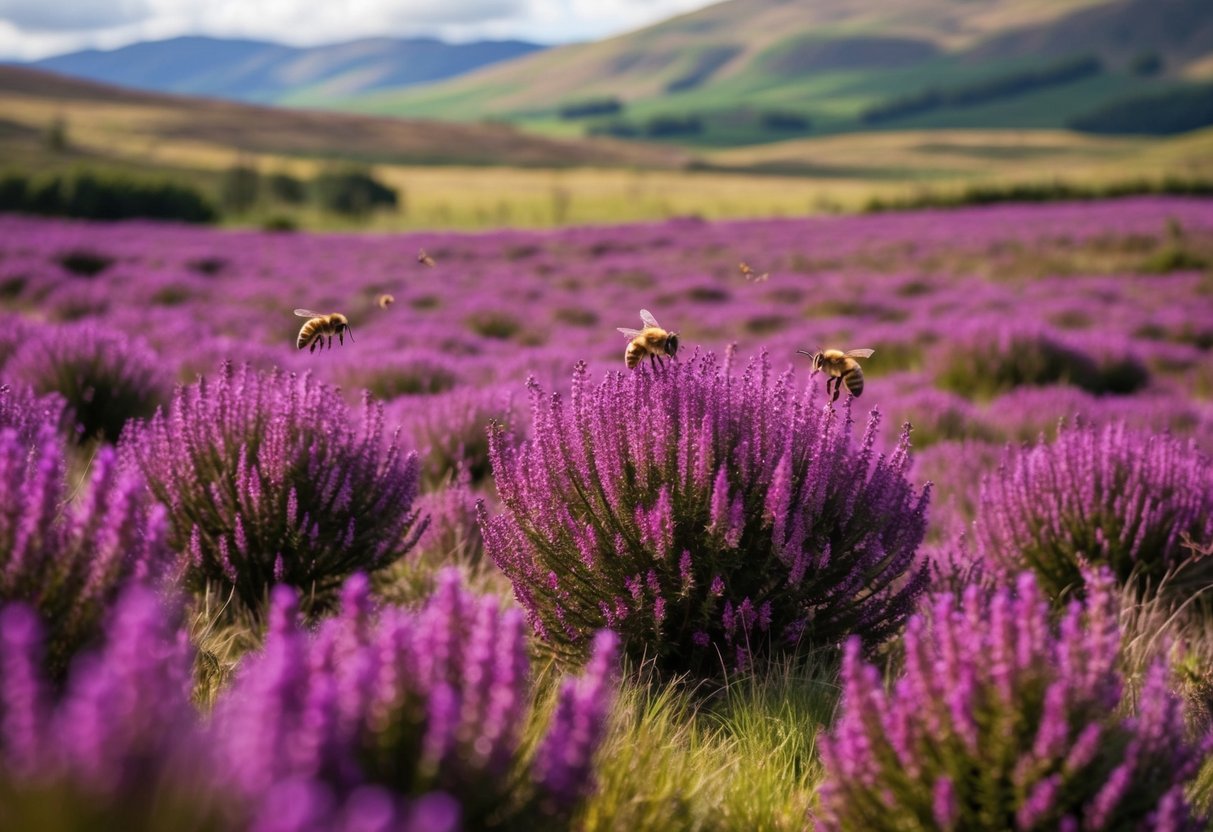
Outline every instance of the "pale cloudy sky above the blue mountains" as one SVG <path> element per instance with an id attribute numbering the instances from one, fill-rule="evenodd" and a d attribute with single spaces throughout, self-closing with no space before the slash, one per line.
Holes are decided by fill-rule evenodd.
<path id="1" fill-rule="evenodd" d="M 713 0 L 0 0 L 0 59 L 177 35 L 311 46 L 368 36 L 597 40 Z"/>

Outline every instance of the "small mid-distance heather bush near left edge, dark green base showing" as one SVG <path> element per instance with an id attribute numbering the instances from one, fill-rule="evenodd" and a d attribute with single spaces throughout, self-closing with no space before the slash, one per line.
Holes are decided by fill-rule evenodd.
<path id="1" fill-rule="evenodd" d="M 38 393 L 62 395 L 81 441 L 116 441 L 130 420 L 150 416 L 170 392 L 147 344 L 89 324 L 35 330 L 5 371 Z"/>

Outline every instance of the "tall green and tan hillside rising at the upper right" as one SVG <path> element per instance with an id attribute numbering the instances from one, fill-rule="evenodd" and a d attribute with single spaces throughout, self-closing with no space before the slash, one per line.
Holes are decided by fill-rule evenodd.
<path id="1" fill-rule="evenodd" d="M 1208 0 L 729 0 L 452 81 L 308 103 L 735 146 L 872 129 L 1063 127 L 1183 89 L 1211 57 Z M 559 115 L 597 99 L 621 109 Z M 944 103 L 870 118 L 933 99 Z"/>

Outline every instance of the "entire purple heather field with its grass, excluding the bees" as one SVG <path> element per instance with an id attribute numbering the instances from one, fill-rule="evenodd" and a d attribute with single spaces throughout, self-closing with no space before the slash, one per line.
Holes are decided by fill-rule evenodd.
<path id="1" fill-rule="evenodd" d="M 1208 822 L 1211 201 L 0 216 L 0 308 L 13 828 Z"/>

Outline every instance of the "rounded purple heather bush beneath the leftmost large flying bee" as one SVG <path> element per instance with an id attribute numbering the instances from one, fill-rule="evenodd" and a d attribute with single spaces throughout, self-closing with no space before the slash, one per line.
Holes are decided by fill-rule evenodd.
<path id="1" fill-rule="evenodd" d="M 409 551 L 425 529 L 411 511 L 416 455 L 383 441 L 381 406 L 364 400 L 352 421 L 309 376 L 228 364 L 133 432 L 126 450 L 169 507 L 194 588 L 258 610 L 287 583 L 319 609 L 347 575 Z"/>

